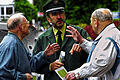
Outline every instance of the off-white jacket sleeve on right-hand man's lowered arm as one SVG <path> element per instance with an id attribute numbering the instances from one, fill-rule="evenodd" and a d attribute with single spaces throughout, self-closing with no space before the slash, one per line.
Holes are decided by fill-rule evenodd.
<path id="1" fill-rule="evenodd" d="M 83 64 L 73 72 L 82 77 L 99 77 L 108 72 L 114 65 L 117 51 L 109 40 L 101 41 L 92 53 L 90 62 Z"/>

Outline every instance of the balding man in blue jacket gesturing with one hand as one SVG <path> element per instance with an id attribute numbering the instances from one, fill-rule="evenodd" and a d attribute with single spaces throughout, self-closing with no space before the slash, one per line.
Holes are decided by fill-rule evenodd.
<path id="1" fill-rule="evenodd" d="M 21 14 L 12 15 L 7 22 L 8 34 L 0 43 L 0 80 L 32 80 L 31 72 L 36 72 L 46 63 L 46 56 L 57 51 L 59 45 L 48 45 L 44 53 L 29 53 L 22 39 L 29 34 L 29 21 Z M 53 47 L 56 49 L 53 50 Z"/>

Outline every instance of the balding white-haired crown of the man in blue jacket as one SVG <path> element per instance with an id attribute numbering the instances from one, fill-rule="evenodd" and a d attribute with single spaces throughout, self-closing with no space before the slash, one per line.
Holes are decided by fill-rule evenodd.
<path id="1" fill-rule="evenodd" d="M 8 30 L 15 29 L 18 24 L 22 23 L 23 18 L 25 18 L 25 17 L 23 16 L 22 13 L 17 13 L 17 14 L 12 15 L 8 19 L 8 22 L 7 22 Z"/>

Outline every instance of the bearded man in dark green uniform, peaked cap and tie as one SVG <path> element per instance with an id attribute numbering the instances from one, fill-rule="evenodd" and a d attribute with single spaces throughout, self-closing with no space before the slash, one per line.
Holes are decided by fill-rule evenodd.
<path id="1" fill-rule="evenodd" d="M 55 69 L 64 66 L 67 71 L 74 70 L 80 67 L 83 63 L 86 62 L 87 54 L 85 51 L 81 50 L 80 53 L 76 53 L 71 55 L 69 52 L 75 43 L 72 38 L 66 37 L 66 35 L 70 34 L 66 32 L 66 26 L 73 26 L 65 23 L 65 12 L 64 12 L 65 3 L 64 0 L 52 0 L 48 2 L 44 7 L 43 10 L 47 15 L 47 20 L 49 23 L 52 23 L 52 27 L 50 27 L 46 32 L 41 34 L 37 40 L 33 53 L 37 53 L 39 51 L 44 52 L 48 44 L 58 43 L 60 42 L 59 51 L 55 54 L 47 57 L 48 63 L 43 65 L 39 70 L 38 73 L 45 74 L 44 80 L 61 80 L 59 76 L 55 73 Z M 88 34 L 80 27 L 76 27 L 80 34 L 84 38 L 88 38 Z M 58 31 L 61 33 L 61 40 L 59 38 Z M 64 62 L 60 63 L 57 61 L 60 55 L 60 51 L 65 52 Z"/>

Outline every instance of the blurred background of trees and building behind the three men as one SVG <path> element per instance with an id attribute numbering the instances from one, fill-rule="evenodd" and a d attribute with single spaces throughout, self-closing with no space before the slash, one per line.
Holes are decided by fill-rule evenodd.
<path id="1" fill-rule="evenodd" d="M 10 15 L 24 13 L 30 24 L 30 34 L 23 39 L 25 47 L 32 52 L 38 36 L 50 26 L 45 18 L 42 7 L 48 0 L 0 0 L 0 42 L 7 34 L 7 20 Z M 113 12 L 114 23 L 120 29 L 119 0 L 64 0 L 66 23 L 84 28 L 94 40 L 97 35 L 91 28 L 91 13 L 97 8 L 109 8 Z"/>

